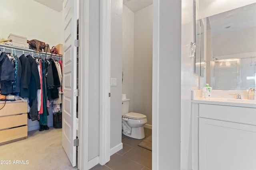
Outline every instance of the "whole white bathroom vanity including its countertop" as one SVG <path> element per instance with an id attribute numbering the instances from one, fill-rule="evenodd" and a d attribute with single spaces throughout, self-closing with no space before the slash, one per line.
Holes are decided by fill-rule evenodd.
<path id="1" fill-rule="evenodd" d="M 215 94 L 192 92 L 192 169 L 256 170 L 256 101 Z"/>

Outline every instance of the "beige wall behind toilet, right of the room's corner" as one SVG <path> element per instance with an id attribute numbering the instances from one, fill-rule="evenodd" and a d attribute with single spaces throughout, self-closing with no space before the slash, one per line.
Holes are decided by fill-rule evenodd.
<path id="1" fill-rule="evenodd" d="M 153 5 L 134 13 L 133 111 L 147 116 L 152 125 Z"/>

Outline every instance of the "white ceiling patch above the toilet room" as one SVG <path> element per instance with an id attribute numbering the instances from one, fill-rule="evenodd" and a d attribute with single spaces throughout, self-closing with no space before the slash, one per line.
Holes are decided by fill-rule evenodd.
<path id="1" fill-rule="evenodd" d="M 132 12 L 136 12 L 153 4 L 153 0 L 123 0 L 123 4 L 132 10 Z"/>

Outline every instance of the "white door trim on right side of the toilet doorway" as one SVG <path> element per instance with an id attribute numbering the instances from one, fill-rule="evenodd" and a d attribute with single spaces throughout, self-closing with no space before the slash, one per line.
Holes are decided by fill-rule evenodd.
<path id="1" fill-rule="evenodd" d="M 159 169 L 159 10 L 160 0 L 153 1 L 153 61 L 152 61 L 152 169 Z"/>

